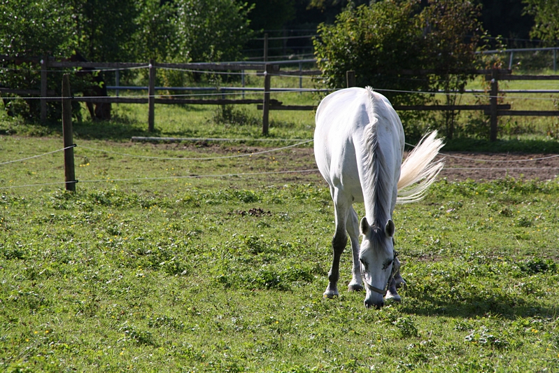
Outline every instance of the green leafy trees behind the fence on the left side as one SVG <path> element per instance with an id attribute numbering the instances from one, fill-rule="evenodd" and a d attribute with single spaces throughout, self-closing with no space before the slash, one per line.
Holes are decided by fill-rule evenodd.
<path id="1" fill-rule="evenodd" d="M 1 0 L 0 55 L 96 62 L 239 59 L 250 36 L 249 10 L 236 0 Z M 7 61 L 2 67 L 3 87 L 39 89 L 38 59 Z M 92 79 L 75 80 L 82 81 L 73 87 L 85 87 Z M 59 96 L 58 83 L 49 89 Z M 10 113 L 38 118 L 34 101 L 6 106 Z M 53 120 L 59 118 L 56 106 L 50 104 L 48 111 Z"/>

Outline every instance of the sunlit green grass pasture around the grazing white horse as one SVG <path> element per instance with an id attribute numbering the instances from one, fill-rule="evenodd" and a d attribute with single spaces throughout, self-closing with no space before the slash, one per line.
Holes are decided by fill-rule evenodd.
<path id="1" fill-rule="evenodd" d="M 186 109 L 158 133 L 256 136 Z M 1 371 L 558 369 L 557 180 L 441 180 L 397 206 L 409 286 L 365 309 L 364 293 L 323 299 L 334 216 L 320 175 L 278 173 L 313 169 L 309 144 L 130 143 L 143 108 L 118 110 L 76 124 L 76 193 L 62 153 L 0 165 Z M 0 162 L 62 147 L 35 128 L 52 132 L 0 136 Z M 231 155 L 246 156 L 187 159 Z M 350 267 L 346 252 L 342 284 Z"/>

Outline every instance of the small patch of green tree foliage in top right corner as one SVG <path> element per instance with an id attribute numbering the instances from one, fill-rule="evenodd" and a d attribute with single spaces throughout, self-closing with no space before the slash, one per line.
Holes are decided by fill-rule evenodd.
<path id="1" fill-rule="evenodd" d="M 539 38 L 557 45 L 559 40 L 559 1 L 523 0 L 525 14 L 533 15 L 535 24 L 530 31 L 532 38 Z"/>

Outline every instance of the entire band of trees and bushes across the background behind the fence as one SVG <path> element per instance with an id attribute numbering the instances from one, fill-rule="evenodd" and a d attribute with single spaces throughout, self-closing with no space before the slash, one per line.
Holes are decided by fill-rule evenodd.
<path id="1" fill-rule="evenodd" d="M 518 37 L 531 36 L 534 43 L 556 45 L 558 22 L 553 4 L 539 0 L 509 1 L 506 9 L 494 1 L 317 1 L 317 0 L 41 0 L 30 6 L 28 0 L 0 1 L 0 54 L 12 57 L 50 55 L 56 59 L 79 56 L 99 62 L 207 62 L 254 58 L 254 43 L 261 48 L 263 31 L 286 35 L 289 28 L 306 30 L 318 36 L 314 41 L 318 66 L 323 71 L 319 87 L 340 88 L 345 73 L 357 72 L 358 85 L 373 85 L 394 104 L 456 104 L 459 95 L 409 94 L 407 92 L 462 92 L 474 76 L 465 69 L 502 66 L 497 59 L 475 55 L 485 48 L 515 46 Z M 106 12 L 106 9 L 111 9 Z M 506 13 L 506 14 L 505 14 Z M 515 30 L 503 26 L 517 22 Z M 500 23 L 496 20 L 500 20 Z M 516 21 L 515 21 L 516 22 Z M 505 22 L 506 23 L 506 22 Z M 522 26 L 521 26 L 522 25 Z M 318 26 L 318 28 L 317 28 Z M 266 30 L 266 28 L 269 28 Z M 108 32 L 108 30 L 111 30 Z M 491 32 L 514 38 L 495 39 Z M 515 34 L 516 32 L 516 34 Z M 277 33 L 276 33 L 277 34 Z M 279 35 L 279 34 L 278 34 Z M 299 40 L 299 39 L 293 39 Z M 512 40 L 512 39 L 511 39 Z M 287 52 L 288 39 L 271 41 L 271 51 Z M 307 41 L 308 42 L 308 41 Z M 283 43 L 276 48 L 274 43 Z M 294 47 L 295 48 L 295 47 Z M 262 57 L 262 50 L 259 58 Z M 271 52 L 274 54 L 275 52 Z M 283 56 L 287 58 L 287 56 Z M 536 56 L 535 60 L 543 60 Z M 518 62 L 520 68 L 521 63 Z M 402 69 L 429 69 L 430 75 L 402 74 Z M 49 89 L 59 95 L 59 74 L 52 71 Z M 105 80 L 115 79 L 105 73 Z M 239 78 L 216 78 L 197 73 L 160 71 L 160 85 L 221 85 L 239 83 Z M 24 59 L 4 62 L 0 85 L 18 89 L 38 89 L 36 63 Z M 125 71 L 120 83 L 146 83 L 146 71 Z M 72 85 L 79 92 L 98 79 L 73 75 Z M 394 90 L 400 92 L 394 92 Z M 316 104 L 315 97 L 310 104 Z M 58 122 L 59 105 L 50 103 L 49 120 Z M 4 102 L 10 115 L 36 122 L 38 101 Z M 76 106 L 78 110 L 79 106 Z M 80 112 L 76 112 L 79 117 Z M 448 139 L 453 136 L 486 136 L 472 120 L 460 123 L 455 111 L 440 117 L 425 112 L 402 112 L 406 134 L 417 139 L 425 127 L 437 122 Z M 481 120 L 483 122 L 483 120 Z M 486 127 L 485 125 L 481 127 Z"/>

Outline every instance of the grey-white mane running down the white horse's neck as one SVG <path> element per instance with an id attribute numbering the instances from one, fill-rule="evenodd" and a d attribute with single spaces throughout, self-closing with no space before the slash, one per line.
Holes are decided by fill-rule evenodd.
<path id="1" fill-rule="evenodd" d="M 384 238 L 384 224 L 388 220 L 385 204 L 390 204 L 391 190 L 388 181 L 388 167 L 386 167 L 386 158 L 382 153 L 381 147 L 378 145 L 378 115 L 375 113 L 376 100 L 372 87 L 365 87 L 367 90 L 367 113 L 371 122 L 365 126 L 362 151 L 364 152 L 364 176 L 365 183 L 363 188 L 363 196 L 365 201 L 372 202 L 372 221 L 369 224 L 374 232 L 373 237 L 381 240 Z M 367 205 L 366 205 L 367 206 Z"/>

